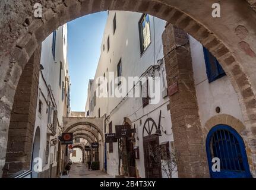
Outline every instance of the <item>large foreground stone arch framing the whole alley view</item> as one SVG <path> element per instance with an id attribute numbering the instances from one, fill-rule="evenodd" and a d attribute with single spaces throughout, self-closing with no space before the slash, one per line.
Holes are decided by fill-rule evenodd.
<path id="1" fill-rule="evenodd" d="M 27 12 L 33 12 L 33 1 L 11 1 L 6 7 L 5 1 L 1 1 L 0 7 L 4 11 L 0 19 L 0 138 L 7 139 L 14 94 L 24 65 L 54 29 L 93 12 L 107 9 L 137 11 L 147 12 L 174 24 L 191 34 L 216 56 L 238 93 L 248 144 L 255 162 L 255 4 L 253 1 L 226 0 L 221 4 L 222 17 L 213 18 L 213 3 L 212 0 L 42 1 L 43 17 L 35 19 L 32 14 L 27 15 Z M 5 143 L 0 145 L 0 171 L 5 162 L 6 147 Z"/>

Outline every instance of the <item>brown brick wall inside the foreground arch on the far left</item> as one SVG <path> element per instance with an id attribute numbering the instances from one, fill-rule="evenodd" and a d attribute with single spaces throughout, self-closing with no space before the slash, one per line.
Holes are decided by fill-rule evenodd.
<path id="1" fill-rule="evenodd" d="M 41 48 L 26 64 L 14 96 L 3 177 L 30 169 L 36 118 Z"/>

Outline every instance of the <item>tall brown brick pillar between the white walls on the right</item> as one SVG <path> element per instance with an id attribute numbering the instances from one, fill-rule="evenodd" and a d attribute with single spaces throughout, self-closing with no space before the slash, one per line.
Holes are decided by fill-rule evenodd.
<path id="1" fill-rule="evenodd" d="M 164 55 L 167 55 L 165 57 L 167 85 L 170 88 L 178 83 L 178 91 L 169 96 L 173 138 L 178 156 L 178 176 L 206 178 L 208 177 L 207 158 L 198 113 L 188 36 L 184 31 L 167 24 L 162 38 Z M 185 43 L 185 46 L 169 53 L 175 48 L 175 44 L 179 46 Z"/>

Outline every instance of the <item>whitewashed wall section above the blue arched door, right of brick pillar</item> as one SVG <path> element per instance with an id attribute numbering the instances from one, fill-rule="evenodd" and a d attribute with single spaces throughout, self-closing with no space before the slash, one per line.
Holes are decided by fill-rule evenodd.
<path id="1" fill-rule="evenodd" d="M 203 46 L 191 36 L 189 40 L 201 124 L 204 126 L 208 119 L 218 114 L 217 106 L 220 107 L 219 114 L 231 115 L 244 122 L 238 96 L 228 77 L 224 76 L 209 84 Z"/>

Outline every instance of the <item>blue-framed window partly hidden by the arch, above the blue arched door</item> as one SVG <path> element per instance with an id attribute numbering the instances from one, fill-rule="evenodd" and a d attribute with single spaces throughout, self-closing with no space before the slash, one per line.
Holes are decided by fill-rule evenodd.
<path id="1" fill-rule="evenodd" d="M 217 59 L 206 49 L 206 47 L 203 47 L 204 49 L 204 59 L 206 62 L 206 73 L 208 77 L 209 83 L 217 80 L 218 78 L 221 78 L 225 76 L 225 71 L 223 70 L 222 66 L 219 64 Z"/>

